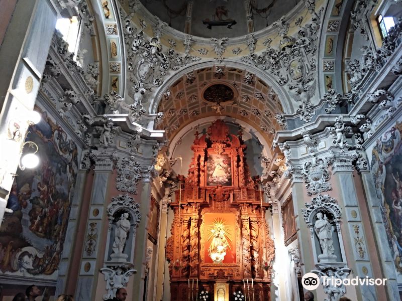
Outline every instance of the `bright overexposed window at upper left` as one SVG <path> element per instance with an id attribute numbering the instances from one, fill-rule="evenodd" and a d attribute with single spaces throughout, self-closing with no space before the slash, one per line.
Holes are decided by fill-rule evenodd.
<path id="1" fill-rule="evenodd" d="M 74 53 L 74 60 L 78 51 L 80 25 L 81 18 L 75 16 L 71 19 L 58 19 L 56 23 L 56 29 L 63 35 L 64 41 L 68 43 L 68 51 Z"/>

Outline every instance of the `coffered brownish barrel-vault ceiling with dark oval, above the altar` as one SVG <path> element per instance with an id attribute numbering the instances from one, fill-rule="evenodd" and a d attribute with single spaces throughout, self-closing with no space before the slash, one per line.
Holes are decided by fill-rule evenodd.
<path id="1" fill-rule="evenodd" d="M 272 140 L 279 129 L 273 117 L 283 109 L 275 91 L 254 74 L 212 66 L 176 80 L 165 90 L 158 111 L 165 115 L 159 129 L 165 129 L 169 139 L 185 124 L 216 115 L 245 120 Z"/>

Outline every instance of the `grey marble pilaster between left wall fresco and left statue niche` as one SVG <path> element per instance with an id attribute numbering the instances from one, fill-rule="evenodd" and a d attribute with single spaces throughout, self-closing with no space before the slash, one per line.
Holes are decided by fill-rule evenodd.
<path id="1" fill-rule="evenodd" d="M 107 153 L 92 151 L 92 154 L 94 175 L 89 201 L 88 221 L 86 227 L 80 229 L 81 231 L 85 231 L 85 238 L 81 264 L 78 270 L 79 276 L 76 282 L 75 299 L 77 301 L 95 299 L 98 277 L 101 275 L 98 271 L 104 264 L 107 239 L 102 233 L 107 229 L 105 225 L 108 222 L 106 208 L 110 203 L 108 199 L 108 187 L 110 185 L 113 163 L 110 155 Z M 74 277 L 74 275 L 71 276 Z"/>

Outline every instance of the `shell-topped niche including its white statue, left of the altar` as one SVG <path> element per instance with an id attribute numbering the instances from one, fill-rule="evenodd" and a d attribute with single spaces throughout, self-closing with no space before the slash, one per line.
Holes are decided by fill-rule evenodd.
<path id="1" fill-rule="evenodd" d="M 119 195 L 108 206 L 109 231 L 106 262 L 134 262 L 137 226 L 141 219 L 139 204 L 132 197 Z"/>

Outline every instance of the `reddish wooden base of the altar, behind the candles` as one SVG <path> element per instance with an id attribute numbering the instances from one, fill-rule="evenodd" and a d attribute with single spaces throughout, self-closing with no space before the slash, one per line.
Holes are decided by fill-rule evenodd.
<path id="1" fill-rule="evenodd" d="M 253 287 L 251 284 L 251 279 L 249 279 L 248 289 L 247 282 L 243 285 L 243 280 L 210 280 L 210 281 L 199 281 L 198 280 L 198 289 L 196 288 L 196 280 L 194 279 L 194 284 L 192 284 L 192 279 L 188 283 L 188 279 L 182 281 L 171 281 L 170 282 L 170 294 L 171 301 L 202 301 L 199 298 L 199 293 L 201 291 L 208 291 L 208 300 L 209 301 L 220 301 L 214 298 L 214 287 L 216 283 L 227 283 L 229 285 L 229 299 L 224 301 L 235 301 L 234 292 L 238 292 L 239 290 L 244 294 L 246 292 L 245 301 L 270 301 L 271 299 L 271 283 L 263 282 L 263 281 L 253 281 L 254 287 L 254 295 L 253 295 Z"/>

